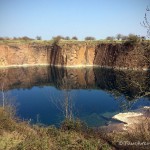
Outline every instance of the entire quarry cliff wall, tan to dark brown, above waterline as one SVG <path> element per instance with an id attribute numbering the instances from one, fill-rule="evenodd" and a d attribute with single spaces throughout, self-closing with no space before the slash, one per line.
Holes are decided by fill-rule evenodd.
<path id="1" fill-rule="evenodd" d="M 0 45 L 0 66 L 12 65 L 104 66 L 149 69 L 148 45 L 119 43 L 63 43 L 56 45 Z"/>

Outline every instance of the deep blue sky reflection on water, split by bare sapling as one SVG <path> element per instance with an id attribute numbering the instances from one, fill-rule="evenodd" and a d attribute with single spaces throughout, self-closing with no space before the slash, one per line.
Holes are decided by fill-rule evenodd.
<path id="1" fill-rule="evenodd" d="M 37 118 L 44 124 L 58 125 L 63 120 L 63 113 L 57 101 L 63 101 L 63 92 L 54 87 L 33 87 L 26 90 L 12 90 L 16 96 L 18 115 L 23 119 Z M 72 90 L 73 114 L 81 118 L 89 125 L 102 125 L 107 119 L 121 111 L 121 104 L 127 104 L 126 100 L 115 100 L 113 96 L 102 90 Z M 133 102 L 132 109 L 141 106 L 150 106 L 150 101 L 140 99 Z M 58 107 L 58 108 L 57 108 Z M 60 109 L 60 110 L 59 110 Z"/>

